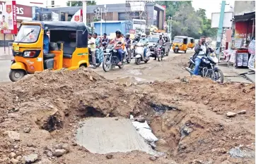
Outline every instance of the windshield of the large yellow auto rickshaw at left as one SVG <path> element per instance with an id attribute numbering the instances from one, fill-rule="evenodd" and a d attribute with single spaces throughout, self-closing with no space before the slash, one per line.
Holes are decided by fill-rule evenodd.
<path id="1" fill-rule="evenodd" d="M 22 25 L 14 42 L 37 42 L 41 27 L 39 25 Z"/>

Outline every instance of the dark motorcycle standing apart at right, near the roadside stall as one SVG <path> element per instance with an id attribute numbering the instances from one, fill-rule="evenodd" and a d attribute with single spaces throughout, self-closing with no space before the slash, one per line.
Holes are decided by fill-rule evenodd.
<path id="1" fill-rule="evenodd" d="M 223 83 L 223 72 L 219 68 L 217 68 L 217 63 L 219 63 L 219 59 L 213 52 L 214 51 L 211 50 L 211 53 L 208 53 L 206 54 L 206 56 L 202 57 L 202 61 L 199 66 L 199 75 L 202 77 L 209 77 L 211 78 L 211 80 Z M 194 66 L 194 58 L 193 56 L 190 56 L 189 67 L 185 68 L 188 72 L 190 72 L 190 75 L 193 75 Z"/>

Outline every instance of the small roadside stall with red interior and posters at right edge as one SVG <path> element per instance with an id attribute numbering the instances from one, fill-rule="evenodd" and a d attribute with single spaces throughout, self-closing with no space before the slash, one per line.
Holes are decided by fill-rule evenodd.
<path id="1" fill-rule="evenodd" d="M 255 70 L 255 11 L 234 16 L 232 47 L 224 52 L 236 68 Z"/>

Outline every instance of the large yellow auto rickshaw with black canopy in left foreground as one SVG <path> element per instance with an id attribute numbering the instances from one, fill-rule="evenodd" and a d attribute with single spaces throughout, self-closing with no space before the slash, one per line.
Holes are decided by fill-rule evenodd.
<path id="1" fill-rule="evenodd" d="M 46 32 L 50 44 L 49 53 L 44 54 Z M 24 22 L 13 42 L 13 56 L 9 73 L 13 82 L 35 71 L 88 67 L 88 28 L 75 22 Z"/>

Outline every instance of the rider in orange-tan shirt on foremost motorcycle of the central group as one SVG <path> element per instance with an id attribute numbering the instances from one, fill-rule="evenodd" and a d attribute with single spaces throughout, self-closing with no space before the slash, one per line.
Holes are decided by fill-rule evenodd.
<path id="1" fill-rule="evenodd" d="M 117 50 L 119 60 L 120 62 L 117 63 L 117 65 L 122 65 L 122 54 L 124 53 L 124 50 L 122 49 L 122 46 L 124 45 L 124 38 L 121 37 L 122 32 L 120 30 L 117 30 L 115 32 L 116 37 L 110 42 L 110 44 L 114 43 L 115 49 Z M 121 44 L 118 44 L 121 42 Z"/>

